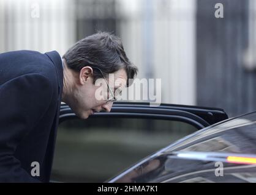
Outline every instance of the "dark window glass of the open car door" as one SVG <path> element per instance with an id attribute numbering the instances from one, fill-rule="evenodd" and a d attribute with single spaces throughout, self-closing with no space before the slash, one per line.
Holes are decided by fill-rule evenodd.
<path id="1" fill-rule="evenodd" d="M 197 129 L 143 118 L 69 119 L 58 128 L 51 180 L 104 182 Z"/>

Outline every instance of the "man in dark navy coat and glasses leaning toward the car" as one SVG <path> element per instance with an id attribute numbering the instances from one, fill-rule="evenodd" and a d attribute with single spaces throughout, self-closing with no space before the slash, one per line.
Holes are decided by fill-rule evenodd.
<path id="1" fill-rule="evenodd" d="M 0 54 L 0 182 L 49 182 L 61 101 L 83 119 L 110 112 L 115 91 L 136 74 L 107 32 L 78 41 L 62 59 L 56 51 Z M 107 98 L 96 96 L 100 78 Z"/>

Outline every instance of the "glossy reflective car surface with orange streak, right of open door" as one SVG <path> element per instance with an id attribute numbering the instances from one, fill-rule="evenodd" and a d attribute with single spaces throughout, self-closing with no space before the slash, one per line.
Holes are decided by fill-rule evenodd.
<path id="1" fill-rule="evenodd" d="M 108 182 L 256 182 L 256 112 L 199 130 Z M 224 176 L 216 176 L 221 161 Z"/>

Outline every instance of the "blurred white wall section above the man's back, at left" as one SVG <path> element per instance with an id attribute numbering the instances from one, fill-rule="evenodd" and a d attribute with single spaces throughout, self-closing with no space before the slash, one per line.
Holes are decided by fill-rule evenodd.
<path id="1" fill-rule="evenodd" d="M 56 50 L 62 55 L 75 43 L 72 1 L 0 0 L 0 5 L 0 52 Z M 39 15 L 35 14 L 37 10 Z"/>

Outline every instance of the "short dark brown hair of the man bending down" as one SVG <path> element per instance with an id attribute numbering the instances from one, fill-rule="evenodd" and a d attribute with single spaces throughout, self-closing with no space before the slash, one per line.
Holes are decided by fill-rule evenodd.
<path id="1" fill-rule="evenodd" d="M 129 79 L 134 79 L 138 71 L 127 58 L 121 39 L 108 32 L 97 32 L 83 38 L 75 43 L 62 59 L 66 60 L 70 69 L 77 72 L 84 66 L 95 68 L 94 82 L 102 78 L 97 68 L 102 70 L 104 76 L 124 68 L 127 73 L 127 86 L 130 85 Z"/>

